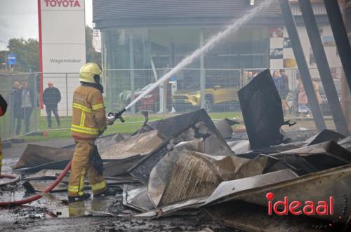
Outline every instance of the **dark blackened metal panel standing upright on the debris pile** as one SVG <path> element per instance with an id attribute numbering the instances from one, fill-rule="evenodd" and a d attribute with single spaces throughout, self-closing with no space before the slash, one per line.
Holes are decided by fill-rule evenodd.
<path id="1" fill-rule="evenodd" d="M 244 123 L 252 149 L 281 144 L 284 136 L 282 100 L 274 86 L 270 70 L 260 72 L 238 91 Z"/>

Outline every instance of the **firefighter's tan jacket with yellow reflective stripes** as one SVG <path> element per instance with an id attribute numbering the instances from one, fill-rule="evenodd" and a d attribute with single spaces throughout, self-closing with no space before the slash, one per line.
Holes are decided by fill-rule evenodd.
<path id="1" fill-rule="evenodd" d="M 95 139 L 106 129 L 106 112 L 97 88 L 79 86 L 74 90 L 71 133 L 74 139 Z"/>

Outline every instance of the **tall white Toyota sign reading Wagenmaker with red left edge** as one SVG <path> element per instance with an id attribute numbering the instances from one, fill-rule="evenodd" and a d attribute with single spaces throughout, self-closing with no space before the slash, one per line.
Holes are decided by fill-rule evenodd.
<path id="1" fill-rule="evenodd" d="M 71 115 L 79 69 L 86 62 L 84 0 L 38 0 L 38 10 L 41 93 L 53 81 L 67 95 L 58 104 L 59 114 Z M 45 116 L 43 102 L 41 109 Z"/>

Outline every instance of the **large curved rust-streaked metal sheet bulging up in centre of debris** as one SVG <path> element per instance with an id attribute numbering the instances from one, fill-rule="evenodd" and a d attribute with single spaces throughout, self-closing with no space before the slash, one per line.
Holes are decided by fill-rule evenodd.
<path id="1" fill-rule="evenodd" d="M 173 152 L 154 167 L 147 191 L 157 207 L 208 196 L 220 182 L 260 175 L 266 160 L 265 157 L 249 160 L 195 151 Z"/>

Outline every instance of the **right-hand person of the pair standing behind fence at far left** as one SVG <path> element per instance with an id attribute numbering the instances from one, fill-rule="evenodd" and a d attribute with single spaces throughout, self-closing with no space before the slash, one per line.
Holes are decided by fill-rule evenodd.
<path id="1" fill-rule="evenodd" d="M 20 114 L 22 114 L 22 118 L 17 123 L 16 135 L 20 134 L 22 119 L 25 120 L 25 132 L 29 132 L 30 116 L 32 116 L 33 107 L 35 107 L 34 92 L 28 88 L 28 81 L 22 81 L 20 100 Z"/>

